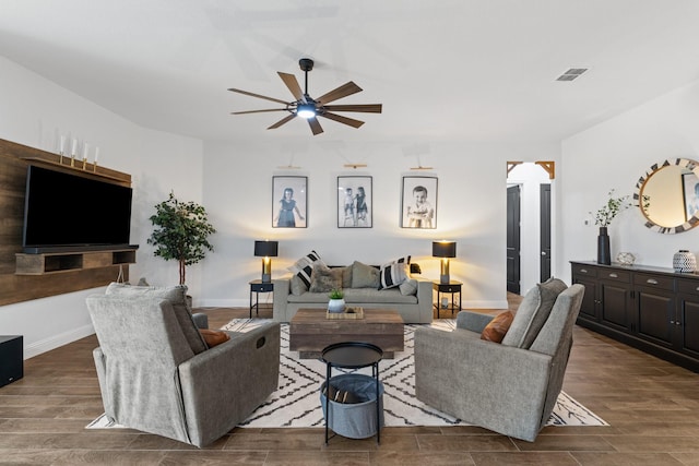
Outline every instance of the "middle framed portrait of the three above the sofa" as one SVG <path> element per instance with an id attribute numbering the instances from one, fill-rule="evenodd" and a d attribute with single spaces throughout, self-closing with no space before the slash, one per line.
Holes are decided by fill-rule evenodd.
<path id="1" fill-rule="evenodd" d="M 371 177 L 337 177 L 337 228 L 371 228 Z"/>

